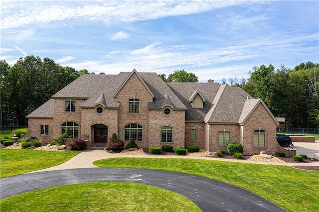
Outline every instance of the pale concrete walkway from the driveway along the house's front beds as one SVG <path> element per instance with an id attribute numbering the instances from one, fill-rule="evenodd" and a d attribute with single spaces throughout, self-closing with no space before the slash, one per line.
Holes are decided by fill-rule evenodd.
<path id="1" fill-rule="evenodd" d="M 314 163 L 271 163 L 271 162 L 259 162 L 259 161 L 248 161 L 239 159 L 225 159 L 225 158 L 211 158 L 211 157 L 192 157 L 182 155 L 124 155 L 116 153 L 108 153 L 103 149 L 87 149 L 79 153 L 75 157 L 57 166 L 53 166 L 47 169 L 37 170 L 34 172 L 44 171 L 55 171 L 65 169 L 78 169 L 78 168 L 93 168 L 97 167 L 93 165 L 96 160 L 107 159 L 107 158 L 118 158 L 118 157 L 143 157 L 143 158 L 188 158 L 188 159 L 202 159 L 202 160 L 218 160 L 218 161 L 229 161 L 239 163 L 254 163 L 254 164 L 266 164 L 266 165 L 284 165 L 284 166 L 319 166 L 319 161 Z M 33 173 L 33 172 L 32 172 Z"/>

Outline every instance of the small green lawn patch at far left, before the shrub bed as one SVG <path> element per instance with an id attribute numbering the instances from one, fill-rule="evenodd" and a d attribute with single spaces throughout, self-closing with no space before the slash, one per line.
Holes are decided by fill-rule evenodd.
<path id="1" fill-rule="evenodd" d="M 44 150 L 0 149 L 0 177 L 9 177 L 56 166 L 80 151 L 52 152 Z"/>

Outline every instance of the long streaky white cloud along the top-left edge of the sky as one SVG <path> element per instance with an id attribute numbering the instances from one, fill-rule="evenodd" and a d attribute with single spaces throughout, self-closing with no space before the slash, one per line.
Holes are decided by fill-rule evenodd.
<path id="1" fill-rule="evenodd" d="M 83 1 L 82 1 L 83 2 Z M 120 3 L 119 3 L 120 2 Z M 26 26 L 31 23 L 49 23 L 51 21 L 80 19 L 99 20 L 106 23 L 135 22 L 157 19 L 172 15 L 193 14 L 222 7 L 247 3 L 245 1 L 107 1 L 87 2 L 40 1 L 36 4 L 20 2 L 6 7 L 3 11 L 0 29 Z M 59 4 L 59 5 L 57 5 Z"/>

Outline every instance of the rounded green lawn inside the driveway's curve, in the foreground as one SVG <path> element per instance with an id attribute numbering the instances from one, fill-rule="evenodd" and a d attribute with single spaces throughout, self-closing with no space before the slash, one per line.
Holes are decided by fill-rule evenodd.
<path id="1" fill-rule="evenodd" d="M 186 197 L 135 183 L 85 183 L 57 186 L 6 198 L 3 212 L 200 212 Z"/>

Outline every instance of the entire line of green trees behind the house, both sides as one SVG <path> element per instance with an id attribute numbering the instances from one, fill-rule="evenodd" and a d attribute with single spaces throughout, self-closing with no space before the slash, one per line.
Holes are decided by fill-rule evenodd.
<path id="1" fill-rule="evenodd" d="M 87 69 L 62 67 L 49 58 L 33 55 L 20 58 L 13 66 L 0 60 L 1 126 L 26 126 L 25 116 L 48 101 L 51 96 L 89 73 Z M 285 117 L 286 126 L 319 127 L 319 64 L 301 63 L 294 69 L 261 65 L 253 67 L 250 77 L 222 79 L 241 87 L 254 98 L 261 98 L 276 117 Z M 198 82 L 198 77 L 176 70 L 165 82 Z"/>

